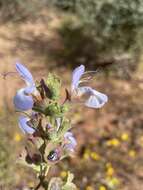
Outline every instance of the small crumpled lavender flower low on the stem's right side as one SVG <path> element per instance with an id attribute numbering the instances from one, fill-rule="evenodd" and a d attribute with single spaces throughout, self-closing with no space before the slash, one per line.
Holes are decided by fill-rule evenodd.
<path id="1" fill-rule="evenodd" d="M 64 134 L 64 141 L 65 141 L 63 145 L 64 149 L 70 152 L 74 152 L 77 142 L 71 132 L 66 132 Z"/>

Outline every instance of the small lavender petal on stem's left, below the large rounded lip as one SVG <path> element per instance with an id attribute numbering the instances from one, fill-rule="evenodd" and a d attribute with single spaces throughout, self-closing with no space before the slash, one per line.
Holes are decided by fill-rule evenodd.
<path id="1" fill-rule="evenodd" d="M 28 125 L 28 121 L 30 121 L 28 117 L 20 116 L 19 127 L 24 133 L 33 134 L 35 130 Z"/>

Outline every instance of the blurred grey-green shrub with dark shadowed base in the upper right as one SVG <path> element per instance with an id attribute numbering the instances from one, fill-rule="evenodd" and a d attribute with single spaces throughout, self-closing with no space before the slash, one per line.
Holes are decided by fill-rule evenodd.
<path id="1" fill-rule="evenodd" d="M 69 16 L 60 30 L 65 45 L 61 54 L 67 60 L 96 67 L 129 59 L 130 69 L 137 67 L 143 42 L 142 0 L 53 0 L 53 4 L 78 20 Z"/>

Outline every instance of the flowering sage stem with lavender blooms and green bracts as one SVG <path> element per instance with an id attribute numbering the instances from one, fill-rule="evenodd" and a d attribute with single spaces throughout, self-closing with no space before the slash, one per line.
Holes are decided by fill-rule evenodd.
<path id="1" fill-rule="evenodd" d="M 64 100 L 60 96 L 61 80 L 56 75 L 49 73 L 46 80 L 34 81 L 30 71 L 20 63 L 16 63 L 16 72 L 26 83 L 13 99 L 20 114 L 19 127 L 27 137 L 27 146 L 18 162 L 36 172 L 39 182 L 33 190 L 76 189 L 71 173 L 66 181 L 54 177 L 48 181 L 46 176 L 55 164 L 74 154 L 77 141 L 67 114 L 72 105 L 100 108 L 107 102 L 107 96 L 84 85 L 94 72 L 85 72 L 83 65 L 73 71 L 71 89 L 65 90 Z"/>

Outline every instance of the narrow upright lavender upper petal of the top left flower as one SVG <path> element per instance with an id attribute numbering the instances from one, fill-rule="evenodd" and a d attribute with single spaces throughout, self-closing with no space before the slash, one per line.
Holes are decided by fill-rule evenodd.
<path id="1" fill-rule="evenodd" d="M 27 85 L 32 85 L 34 84 L 33 76 L 30 73 L 30 71 L 21 63 L 16 63 L 16 70 L 20 74 L 20 76 L 25 80 Z"/>

